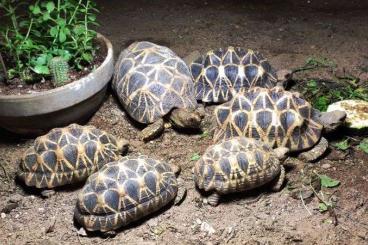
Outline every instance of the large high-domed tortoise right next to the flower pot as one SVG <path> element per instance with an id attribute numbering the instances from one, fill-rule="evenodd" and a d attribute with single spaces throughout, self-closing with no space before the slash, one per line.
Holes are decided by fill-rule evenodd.
<path id="1" fill-rule="evenodd" d="M 169 48 L 135 42 L 123 50 L 115 66 L 113 88 L 142 131 L 151 140 L 164 130 L 164 119 L 178 128 L 199 128 L 201 113 L 188 66 Z"/>

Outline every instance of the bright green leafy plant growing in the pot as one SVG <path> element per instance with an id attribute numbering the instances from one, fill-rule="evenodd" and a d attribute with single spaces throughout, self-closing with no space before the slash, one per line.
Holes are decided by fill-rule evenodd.
<path id="1" fill-rule="evenodd" d="M 0 51 L 7 54 L 9 79 L 40 80 L 50 75 L 48 64 L 60 56 L 81 70 L 93 60 L 97 9 L 90 1 L 35 1 L 26 16 L 18 14 L 21 1 L 0 0 L 9 20 L 2 24 Z"/>

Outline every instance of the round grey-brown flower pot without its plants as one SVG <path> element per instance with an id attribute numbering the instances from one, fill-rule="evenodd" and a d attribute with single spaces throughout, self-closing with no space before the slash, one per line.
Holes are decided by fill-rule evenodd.
<path id="1" fill-rule="evenodd" d="M 24 95 L 0 95 L 0 127 L 18 134 L 40 135 L 55 127 L 83 122 L 100 107 L 114 72 L 111 42 L 103 63 L 87 76 L 64 86 Z"/>

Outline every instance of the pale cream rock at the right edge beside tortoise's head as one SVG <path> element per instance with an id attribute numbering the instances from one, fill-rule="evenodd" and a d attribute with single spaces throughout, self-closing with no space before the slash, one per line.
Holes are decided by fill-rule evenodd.
<path id="1" fill-rule="evenodd" d="M 351 129 L 368 128 L 368 102 L 364 100 L 342 100 L 328 106 L 327 111 L 346 112 L 345 124 Z"/>

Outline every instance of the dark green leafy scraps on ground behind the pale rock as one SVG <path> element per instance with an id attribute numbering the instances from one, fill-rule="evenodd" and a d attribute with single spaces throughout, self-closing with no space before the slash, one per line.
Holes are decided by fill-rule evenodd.
<path id="1" fill-rule="evenodd" d="M 331 86 L 334 88 L 331 88 Z M 354 80 L 344 84 L 332 84 L 327 81 L 309 80 L 299 84 L 304 97 L 310 101 L 314 108 L 326 111 L 328 105 L 346 99 L 361 99 L 368 101 L 368 88 L 358 87 Z"/>

